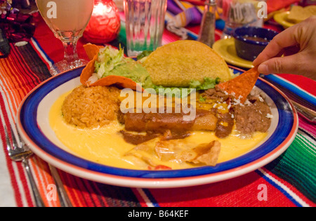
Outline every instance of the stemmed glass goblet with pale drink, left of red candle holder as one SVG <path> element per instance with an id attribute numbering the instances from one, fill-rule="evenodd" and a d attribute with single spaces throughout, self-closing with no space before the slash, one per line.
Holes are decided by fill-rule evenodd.
<path id="1" fill-rule="evenodd" d="M 86 65 L 78 57 L 77 41 L 88 25 L 93 4 L 94 0 L 37 0 L 41 16 L 64 46 L 64 59 L 52 65 L 52 75 Z"/>

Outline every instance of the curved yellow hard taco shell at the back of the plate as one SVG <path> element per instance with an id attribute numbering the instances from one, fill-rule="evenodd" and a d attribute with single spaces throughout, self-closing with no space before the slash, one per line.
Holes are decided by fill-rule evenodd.
<path id="1" fill-rule="evenodd" d="M 192 80 L 231 79 L 225 60 L 199 41 L 180 40 L 157 48 L 144 61 L 152 83 L 164 87 L 188 87 Z"/>

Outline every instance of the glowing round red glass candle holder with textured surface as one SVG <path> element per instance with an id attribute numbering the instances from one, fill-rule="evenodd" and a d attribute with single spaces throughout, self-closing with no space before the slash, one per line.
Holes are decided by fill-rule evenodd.
<path id="1" fill-rule="evenodd" d="M 117 38 L 121 27 L 119 11 L 112 0 L 95 0 L 91 19 L 84 31 L 89 43 L 108 43 Z"/>

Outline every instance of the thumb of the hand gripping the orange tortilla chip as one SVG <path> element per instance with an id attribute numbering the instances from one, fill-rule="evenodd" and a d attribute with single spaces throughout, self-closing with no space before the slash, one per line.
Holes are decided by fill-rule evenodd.
<path id="1" fill-rule="evenodd" d="M 287 57 L 271 58 L 259 65 L 258 72 L 261 74 L 297 74 L 298 67 L 301 67 L 299 56 L 290 55 Z"/>

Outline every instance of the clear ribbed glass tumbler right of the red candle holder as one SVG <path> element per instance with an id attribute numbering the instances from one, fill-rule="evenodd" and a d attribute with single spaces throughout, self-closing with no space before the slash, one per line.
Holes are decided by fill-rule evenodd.
<path id="1" fill-rule="evenodd" d="M 127 55 L 162 45 L 167 0 L 124 0 Z"/>

